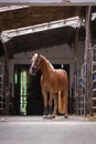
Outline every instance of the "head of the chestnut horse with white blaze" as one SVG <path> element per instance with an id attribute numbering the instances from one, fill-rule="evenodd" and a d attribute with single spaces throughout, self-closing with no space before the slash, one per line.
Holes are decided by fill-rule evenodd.
<path id="1" fill-rule="evenodd" d="M 30 74 L 34 75 L 36 71 L 40 70 L 40 64 L 41 64 L 41 54 L 32 53 Z"/>

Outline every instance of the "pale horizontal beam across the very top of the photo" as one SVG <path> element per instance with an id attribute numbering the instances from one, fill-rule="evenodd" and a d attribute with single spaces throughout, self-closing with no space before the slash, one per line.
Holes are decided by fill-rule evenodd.
<path id="1" fill-rule="evenodd" d="M 0 4 L 29 4 L 29 6 L 52 6 L 52 4 L 94 4 L 95 0 L 0 0 Z"/>

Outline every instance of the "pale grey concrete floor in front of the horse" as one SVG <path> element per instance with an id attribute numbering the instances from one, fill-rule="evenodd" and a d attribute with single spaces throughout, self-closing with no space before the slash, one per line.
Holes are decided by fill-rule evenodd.
<path id="1" fill-rule="evenodd" d="M 0 144 L 95 144 L 96 122 L 81 116 L 1 116 Z"/>

